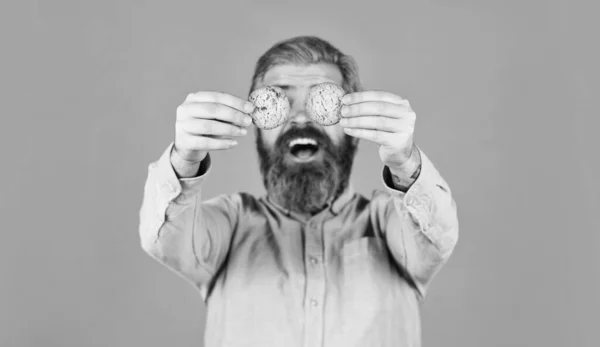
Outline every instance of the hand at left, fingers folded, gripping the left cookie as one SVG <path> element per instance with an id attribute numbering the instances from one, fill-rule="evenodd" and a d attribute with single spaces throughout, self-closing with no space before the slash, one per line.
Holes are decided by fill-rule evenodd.
<path id="1" fill-rule="evenodd" d="M 188 95 L 177 108 L 174 151 L 183 160 L 199 164 L 209 151 L 237 145 L 247 134 L 254 105 L 236 96 L 212 91 Z"/>

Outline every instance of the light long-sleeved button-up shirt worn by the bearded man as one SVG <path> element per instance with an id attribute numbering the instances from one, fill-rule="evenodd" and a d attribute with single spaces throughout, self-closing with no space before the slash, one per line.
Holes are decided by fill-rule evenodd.
<path id="1" fill-rule="evenodd" d="M 367 198 L 352 185 L 303 216 L 268 195 L 204 199 L 210 155 L 178 178 L 170 144 L 151 163 L 140 210 L 145 252 L 206 303 L 206 347 L 421 345 L 420 301 L 458 238 L 448 184 L 421 153 L 406 191 L 383 167 Z"/>

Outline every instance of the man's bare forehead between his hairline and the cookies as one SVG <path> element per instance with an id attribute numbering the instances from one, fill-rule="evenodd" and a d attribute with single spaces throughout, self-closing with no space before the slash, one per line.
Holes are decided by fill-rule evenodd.
<path id="1" fill-rule="evenodd" d="M 343 77 L 340 69 L 333 64 L 276 65 L 263 77 L 263 85 L 314 85 L 322 82 L 333 82 L 341 85 Z"/>

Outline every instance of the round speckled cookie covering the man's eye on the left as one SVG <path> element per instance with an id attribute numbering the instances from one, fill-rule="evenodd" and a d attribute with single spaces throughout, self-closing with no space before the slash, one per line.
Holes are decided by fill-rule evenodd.
<path id="1" fill-rule="evenodd" d="M 254 124 L 261 129 L 273 129 L 285 123 L 290 112 L 290 101 L 283 89 L 267 86 L 253 91 L 248 101 L 254 104 L 250 114 Z"/>

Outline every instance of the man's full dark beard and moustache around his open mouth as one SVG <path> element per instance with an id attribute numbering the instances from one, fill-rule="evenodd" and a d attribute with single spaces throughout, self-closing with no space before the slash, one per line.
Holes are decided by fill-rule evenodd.
<path id="1" fill-rule="evenodd" d="M 302 137 L 317 140 L 321 158 L 305 163 L 290 160 L 287 144 Z M 293 127 L 281 134 L 273 148 L 264 144 L 258 131 L 256 147 L 269 197 L 285 209 L 314 215 L 348 187 L 357 144 L 344 134 L 336 146 L 329 136 L 309 125 Z"/>

